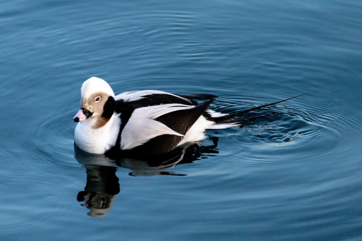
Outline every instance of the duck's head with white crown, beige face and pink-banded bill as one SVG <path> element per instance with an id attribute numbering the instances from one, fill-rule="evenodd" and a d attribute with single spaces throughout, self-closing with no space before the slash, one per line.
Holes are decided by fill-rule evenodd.
<path id="1" fill-rule="evenodd" d="M 114 92 L 103 79 L 92 77 L 84 81 L 80 90 L 80 110 L 75 122 L 98 117 L 98 127 L 104 125 L 114 113 Z M 99 126 L 102 124 L 101 126 Z"/>

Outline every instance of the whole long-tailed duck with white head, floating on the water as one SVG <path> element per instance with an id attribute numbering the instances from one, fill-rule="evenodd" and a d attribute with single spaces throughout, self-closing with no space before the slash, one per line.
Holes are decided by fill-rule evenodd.
<path id="1" fill-rule="evenodd" d="M 156 90 L 114 95 L 106 81 L 92 77 L 81 87 L 80 110 L 73 118 L 78 122 L 74 141 L 81 150 L 94 154 L 163 154 L 204 139 L 206 129 L 240 125 L 241 119 L 235 119 L 238 115 L 285 101 L 222 114 L 207 109 L 217 97 Z"/>

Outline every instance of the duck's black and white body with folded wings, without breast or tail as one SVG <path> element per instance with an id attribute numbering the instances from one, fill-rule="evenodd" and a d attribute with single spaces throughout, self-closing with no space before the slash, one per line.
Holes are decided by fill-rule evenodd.
<path id="1" fill-rule="evenodd" d="M 131 91 L 115 96 L 115 112 L 120 114 L 121 119 L 115 148 L 159 154 L 171 151 L 182 143 L 202 139 L 203 132 L 211 124 L 202 114 L 217 96 L 188 96 L 206 101 L 198 104 L 186 96 L 153 90 Z M 198 128 L 191 129 L 197 121 Z M 188 133 L 190 129 L 192 135 Z"/>

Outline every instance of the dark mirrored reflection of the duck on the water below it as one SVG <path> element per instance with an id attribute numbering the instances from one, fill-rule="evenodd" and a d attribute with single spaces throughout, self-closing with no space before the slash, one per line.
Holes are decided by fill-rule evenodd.
<path id="1" fill-rule="evenodd" d="M 218 138 L 210 137 L 206 141 L 211 141 L 211 145 L 202 146 L 202 142 L 189 143 L 161 155 L 137 158 L 128 156 L 119 159 L 110 159 L 104 154 L 90 154 L 74 144 L 75 159 L 87 170 L 87 184 L 84 191 L 78 193 L 77 201 L 85 202 L 81 206 L 90 210 L 89 216 L 105 216 L 113 208 L 114 199 L 120 191 L 119 179 L 115 174 L 117 168 L 130 169 L 130 176 L 186 176 L 168 169 L 218 154 Z"/>

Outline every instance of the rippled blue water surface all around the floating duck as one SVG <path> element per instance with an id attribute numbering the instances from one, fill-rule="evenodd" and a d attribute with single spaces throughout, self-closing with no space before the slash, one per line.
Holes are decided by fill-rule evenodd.
<path id="1" fill-rule="evenodd" d="M 362 240 L 361 1 L 5 0 L 0 29 L 1 240 Z M 223 112 L 308 94 L 113 162 L 73 146 L 91 76 Z"/>

